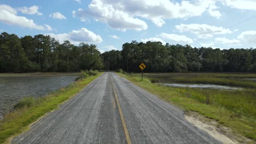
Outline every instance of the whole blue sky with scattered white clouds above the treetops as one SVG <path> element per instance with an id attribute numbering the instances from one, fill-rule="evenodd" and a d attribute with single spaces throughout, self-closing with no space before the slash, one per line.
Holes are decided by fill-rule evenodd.
<path id="1" fill-rule="evenodd" d="M 256 0 L 0 1 L 0 32 L 121 50 L 132 40 L 256 48 Z"/>

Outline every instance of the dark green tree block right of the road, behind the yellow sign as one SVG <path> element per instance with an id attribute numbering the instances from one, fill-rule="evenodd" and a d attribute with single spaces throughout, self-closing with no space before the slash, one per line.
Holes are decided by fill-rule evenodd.
<path id="1" fill-rule="evenodd" d="M 162 45 L 161 42 L 123 44 L 121 51 L 102 53 L 104 69 L 121 68 L 128 72 L 256 72 L 256 49 L 212 49 L 190 45 Z"/>

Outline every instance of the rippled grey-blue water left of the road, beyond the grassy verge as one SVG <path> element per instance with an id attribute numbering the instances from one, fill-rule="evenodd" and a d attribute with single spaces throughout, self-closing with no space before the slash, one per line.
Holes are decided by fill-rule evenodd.
<path id="1" fill-rule="evenodd" d="M 0 77 L 0 119 L 4 113 L 24 97 L 42 97 L 49 92 L 66 87 L 77 76 L 22 76 Z"/>

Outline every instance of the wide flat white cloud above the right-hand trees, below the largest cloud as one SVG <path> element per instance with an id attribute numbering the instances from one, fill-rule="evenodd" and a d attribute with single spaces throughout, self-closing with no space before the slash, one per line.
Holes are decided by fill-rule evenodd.
<path id="1" fill-rule="evenodd" d="M 223 27 L 215 27 L 210 26 L 206 24 L 196 24 L 191 23 L 189 25 L 181 24 L 176 25 L 176 29 L 179 30 L 179 32 L 191 32 L 193 34 L 196 34 L 198 38 L 209 38 L 212 37 L 212 34 L 230 34 L 232 31 L 230 29 L 226 29 Z"/>

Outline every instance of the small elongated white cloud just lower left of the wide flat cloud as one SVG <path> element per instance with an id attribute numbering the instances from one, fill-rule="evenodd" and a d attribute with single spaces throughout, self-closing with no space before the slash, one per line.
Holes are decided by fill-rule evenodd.
<path id="1" fill-rule="evenodd" d="M 186 44 L 193 43 L 193 39 L 190 39 L 185 35 L 161 33 L 159 36 L 163 39 L 178 41 L 181 43 L 186 43 Z"/>

